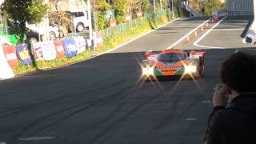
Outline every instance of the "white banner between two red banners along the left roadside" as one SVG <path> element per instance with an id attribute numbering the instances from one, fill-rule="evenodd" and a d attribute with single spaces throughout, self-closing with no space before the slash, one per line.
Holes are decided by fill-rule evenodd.
<path id="1" fill-rule="evenodd" d="M 42 57 L 46 61 L 54 60 L 57 57 L 54 42 L 41 42 Z"/>

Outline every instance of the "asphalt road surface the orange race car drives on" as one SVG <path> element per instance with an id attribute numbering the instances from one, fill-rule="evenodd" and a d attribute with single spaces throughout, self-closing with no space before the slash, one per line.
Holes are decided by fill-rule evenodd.
<path id="1" fill-rule="evenodd" d="M 241 18 L 226 21 L 235 19 Z M 165 49 L 205 20 L 181 19 L 97 58 L 0 81 L 0 142 L 202 143 L 221 62 L 235 50 L 256 51 L 240 45 L 205 49 L 206 76 L 198 81 L 143 82 L 139 62 L 145 51 Z M 239 21 L 238 28 L 249 21 Z M 212 30 L 199 43 L 215 46 L 218 33 L 230 31 Z M 191 42 L 182 40 L 178 47 L 200 50 L 193 45 L 196 39 L 191 36 Z"/>

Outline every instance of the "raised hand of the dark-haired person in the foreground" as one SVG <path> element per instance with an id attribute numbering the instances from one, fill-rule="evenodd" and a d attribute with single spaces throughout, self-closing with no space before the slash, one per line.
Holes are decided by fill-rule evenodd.
<path id="1" fill-rule="evenodd" d="M 226 90 L 223 85 L 218 85 L 215 88 L 214 96 L 213 96 L 213 105 L 215 106 L 226 106 L 227 102 Z"/>

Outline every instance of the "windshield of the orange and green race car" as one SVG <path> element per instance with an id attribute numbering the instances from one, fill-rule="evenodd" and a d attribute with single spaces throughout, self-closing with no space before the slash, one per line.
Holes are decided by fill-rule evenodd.
<path id="1" fill-rule="evenodd" d="M 178 62 L 186 58 L 185 54 L 166 53 L 160 54 L 157 58 L 158 62 Z"/>

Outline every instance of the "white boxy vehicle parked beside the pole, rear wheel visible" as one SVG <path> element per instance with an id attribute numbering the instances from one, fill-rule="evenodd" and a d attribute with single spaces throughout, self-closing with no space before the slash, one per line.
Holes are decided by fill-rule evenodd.
<path id="1" fill-rule="evenodd" d="M 70 14 L 73 26 L 78 32 L 82 32 L 86 28 L 89 28 L 89 16 L 87 10 L 73 10 L 66 11 L 66 13 Z"/>

